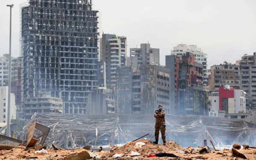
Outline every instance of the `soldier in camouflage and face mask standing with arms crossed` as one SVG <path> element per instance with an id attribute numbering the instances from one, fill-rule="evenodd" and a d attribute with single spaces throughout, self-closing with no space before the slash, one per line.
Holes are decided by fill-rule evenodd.
<path id="1" fill-rule="evenodd" d="M 163 110 L 163 105 L 158 106 L 158 110 L 155 111 L 154 117 L 156 117 L 156 124 L 155 124 L 155 142 L 154 144 L 158 144 L 158 137 L 159 137 L 159 130 L 161 131 L 162 134 L 162 139 L 163 139 L 163 145 L 166 145 L 166 136 L 165 136 L 165 130 L 166 130 L 166 125 L 165 125 L 165 110 Z"/>

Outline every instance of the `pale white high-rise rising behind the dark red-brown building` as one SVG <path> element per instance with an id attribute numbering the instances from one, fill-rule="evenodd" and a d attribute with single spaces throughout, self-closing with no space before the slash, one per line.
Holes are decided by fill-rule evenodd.
<path id="1" fill-rule="evenodd" d="M 198 48 L 196 45 L 179 44 L 176 47 L 173 47 L 171 50 L 171 55 L 186 55 L 186 52 L 192 52 L 195 56 L 195 62 L 203 65 L 203 81 L 204 86 L 208 85 L 208 75 L 207 75 L 207 53 L 204 53 L 201 48 Z"/>

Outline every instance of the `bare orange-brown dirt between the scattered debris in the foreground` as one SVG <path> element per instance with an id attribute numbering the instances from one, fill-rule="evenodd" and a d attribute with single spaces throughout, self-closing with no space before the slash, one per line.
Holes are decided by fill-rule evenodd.
<path id="1" fill-rule="evenodd" d="M 143 142 L 145 143 L 142 148 L 136 150 L 135 143 Z M 64 160 L 64 158 L 69 154 L 75 154 L 81 151 L 87 151 L 82 148 L 77 148 L 74 151 L 70 150 L 58 150 L 53 151 L 51 149 L 46 149 L 47 153 L 37 153 L 35 154 L 35 149 L 28 149 L 25 151 L 25 147 L 23 148 L 13 148 L 12 150 L 1 150 L 0 151 L 0 160 L 19 160 L 19 159 L 28 159 L 29 157 L 37 157 L 35 160 L 43 160 L 47 158 L 49 160 Z M 192 148 L 193 150 L 193 148 Z M 231 154 L 231 148 L 227 148 L 224 151 L 211 151 L 210 153 L 202 153 L 199 154 L 199 150 L 201 148 L 195 148 L 195 150 L 188 150 L 180 146 L 178 143 L 170 141 L 166 142 L 166 145 L 156 145 L 149 140 L 138 140 L 136 142 L 128 143 L 122 147 L 116 148 L 113 151 L 101 151 L 101 152 L 93 152 L 99 154 L 101 158 L 94 158 L 96 160 L 113 160 L 112 157 L 115 154 L 124 154 L 124 157 L 117 158 L 118 160 L 200 160 L 200 159 L 208 159 L 208 160 L 244 160 L 241 157 L 234 157 Z M 131 151 L 140 153 L 140 156 L 131 157 Z M 191 153 L 186 153 L 189 151 Z M 92 152 L 92 151 L 91 151 Z M 157 153 L 171 153 L 175 154 L 178 157 L 143 157 L 143 155 L 149 154 L 157 154 Z M 256 158 L 256 149 L 244 150 L 240 149 L 240 153 L 245 154 L 249 160 L 255 160 Z M 51 156 L 51 157 L 49 157 Z M 190 159 L 191 158 L 191 159 Z M 47 159 L 47 160 L 48 160 Z M 78 159 L 76 159 L 78 160 Z M 93 158 L 91 158 L 93 160 Z"/>

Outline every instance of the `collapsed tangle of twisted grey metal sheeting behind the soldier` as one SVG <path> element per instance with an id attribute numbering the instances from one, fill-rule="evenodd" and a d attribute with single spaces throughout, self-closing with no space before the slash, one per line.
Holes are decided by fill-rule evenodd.
<path id="1" fill-rule="evenodd" d="M 28 122 L 39 122 L 50 128 L 46 144 L 74 149 L 84 145 L 127 143 L 149 133 L 154 140 L 154 117 L 151 114 L 104 116 L 46 115 L 36 113 Z M 20 133 L 26 139 L 28 125 Z M 34 137 L 41 133 L 35 130 Z M 166 114 L 166 137 L 182 146 L 201 146 L 203 140 L 219 145 L 234 143 L 256 145 L 256 124 L 236 119 L 200 115 Z"/>

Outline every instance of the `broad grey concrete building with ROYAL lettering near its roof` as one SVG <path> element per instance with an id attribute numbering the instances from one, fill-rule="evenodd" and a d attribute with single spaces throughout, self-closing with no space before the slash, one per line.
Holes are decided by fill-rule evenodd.
<path id="1" fill-rule="evenodd" d="M 145 65 L 116 71 L 116 113 L 154 113 L 159 104 L 171 113 L 169 69 Z"/>

